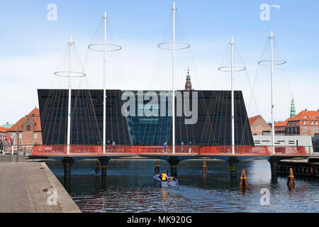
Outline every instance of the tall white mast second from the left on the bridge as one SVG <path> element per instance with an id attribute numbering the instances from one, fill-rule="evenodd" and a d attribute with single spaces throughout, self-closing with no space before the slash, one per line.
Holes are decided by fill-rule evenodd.
<path id="1" fill-rule="evenodd" d="M 103 153 L 106 152 L 106 12 L 104 12 L 104 59 L 103 59 Z"/>

